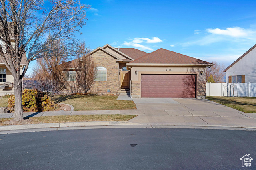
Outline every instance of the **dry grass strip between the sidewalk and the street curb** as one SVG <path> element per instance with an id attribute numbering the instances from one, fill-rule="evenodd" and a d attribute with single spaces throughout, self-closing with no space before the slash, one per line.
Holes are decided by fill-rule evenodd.
<path id="1" fill-rule="evenodd" d="M 90 122 L 90 121 L 128 121 L 136 115 L 71 115 L 71 116 L 42 116 L 29 117 L 24 121 L 13 121 L 12 118 L 0 119 L 0 126 L 24 125 L 38 123 L 63 123 L 63 122 Z"/>

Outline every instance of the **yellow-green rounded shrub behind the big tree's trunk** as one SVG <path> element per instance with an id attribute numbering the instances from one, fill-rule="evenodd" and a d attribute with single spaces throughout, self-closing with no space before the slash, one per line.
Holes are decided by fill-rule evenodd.
<path id="1" fill-rule="evenodd" d="M 14 95 L 8 98 L 8 106 L 15 107 Z M 22 91 L 22 105 L 23 111 L 37 112 L 54 110 L 56 104 L 52 101 L 47 94 L 39 90 L 23 90 Z"/>

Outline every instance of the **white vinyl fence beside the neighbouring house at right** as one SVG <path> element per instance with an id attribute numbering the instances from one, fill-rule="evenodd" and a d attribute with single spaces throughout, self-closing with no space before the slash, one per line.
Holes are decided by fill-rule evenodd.
<path id="1" fill-rule="evenodd" d="M 206 96 L 233 96 L 231 83 L 206 83 Z M 256 97 L 256 83 L 237 83 L 234 96 Z"/>

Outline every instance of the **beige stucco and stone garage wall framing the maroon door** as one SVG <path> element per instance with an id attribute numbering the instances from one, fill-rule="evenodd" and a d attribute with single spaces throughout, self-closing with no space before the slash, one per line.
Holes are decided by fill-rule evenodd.
<path id="1" fill-rule="evenodd" d="M 135 71 L 137 70 L 137 75 Z M 200 71 L 204 73 L 200 75 Z M 131 95 L 133 98 L 140 97 L 141 74 L 196 74 L 197 76 L 197 98 L 206 96 L 206 67 L 154 67 L 154 66 L 133 66 Z"/>

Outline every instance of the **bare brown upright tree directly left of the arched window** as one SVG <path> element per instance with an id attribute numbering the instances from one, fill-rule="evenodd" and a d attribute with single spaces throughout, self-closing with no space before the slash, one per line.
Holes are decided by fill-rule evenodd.
<path id="1" fill-rule="evenodd" d="M 79 45 L 79 51 L 74 62 L 74 68 L 76 68 L 76 83 L 80 87 L 83 93 L 87 93 L 92 85 L 96 76 L 96 65 L 90 55 L 90 49 L 85 47 L 85 43 L 82 42 Z"/>

